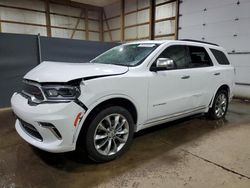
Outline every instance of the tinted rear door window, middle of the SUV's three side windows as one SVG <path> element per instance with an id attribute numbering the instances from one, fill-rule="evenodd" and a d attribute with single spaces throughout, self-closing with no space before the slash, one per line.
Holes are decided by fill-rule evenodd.
<path id="1" fill-rule="evenodd" d="M 188 62 L 190 68 L 212 66 L 212 61 L 205 48 L 199 46 L 188 46 Z"/>

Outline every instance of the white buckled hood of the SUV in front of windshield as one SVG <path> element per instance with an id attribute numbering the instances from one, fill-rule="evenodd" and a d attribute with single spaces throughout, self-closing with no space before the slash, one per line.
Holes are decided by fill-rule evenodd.
<path id="1" fill-rule="evenodd" d="M 97 63 L 61 63 L 45 61 L 29 71 L 24 79 L 37 82 L 68 82 L 79 78 L 123 74 L 128 67 Z"/>

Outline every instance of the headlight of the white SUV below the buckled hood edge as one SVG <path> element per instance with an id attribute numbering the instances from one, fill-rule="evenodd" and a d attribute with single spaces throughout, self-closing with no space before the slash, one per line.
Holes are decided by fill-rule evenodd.
<path id="1" fill-rule="evenodd" d="M 75 100 L 81 94 L 78 86 L 43 86 L 42 90 L 48 100 Z"/>

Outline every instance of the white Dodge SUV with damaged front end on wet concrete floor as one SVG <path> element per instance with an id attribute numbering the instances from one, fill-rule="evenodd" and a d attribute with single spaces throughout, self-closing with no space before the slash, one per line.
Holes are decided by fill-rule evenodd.
<path id="1" fill-rule="evenodd" d="M 226 115 L 234 68 L 225 50 L 194 41 L 143 41 L 89 63 L 43 62 L 14 93 L 16 130 L 49 152 L 78 148 L 109 161 L 134 132 L 198 113 Z"/>

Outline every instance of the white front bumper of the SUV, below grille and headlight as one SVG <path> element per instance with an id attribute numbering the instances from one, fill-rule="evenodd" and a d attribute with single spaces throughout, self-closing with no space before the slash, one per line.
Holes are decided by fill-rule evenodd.
<path id="1" fill-rule="evenodd" d="M 47 103 L 31 106 L 26 98 L 15 93 L 11 98 L 11 106 L 17 119 L 15 128 L 18 134 L 31 145 L 45 151 L 60 153 L 75 150 L 75 133 L 80 122 L 75 123 L 79 113 L 84 115 L 85 110 L 75 102 Z M 23 124 L 27 123 L 42 137 L 27 131 Z M 58 137 L 53 130 L 42 123 L 53 125 L 60 133 Z M 37 138 L 38 137 L 38 138 Z"/>

